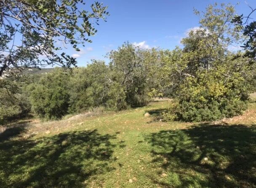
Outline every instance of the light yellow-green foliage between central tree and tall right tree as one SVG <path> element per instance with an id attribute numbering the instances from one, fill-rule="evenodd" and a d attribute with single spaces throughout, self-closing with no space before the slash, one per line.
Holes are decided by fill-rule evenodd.
<path id="1" fill-rule="evenodd" d="M 182 79 L 184 61 L 182 49 L 174 50 L 152 48 L 143 51 L 144 64 L 147 70 L 147 83 L 151 97 L 174 97 Z"/>

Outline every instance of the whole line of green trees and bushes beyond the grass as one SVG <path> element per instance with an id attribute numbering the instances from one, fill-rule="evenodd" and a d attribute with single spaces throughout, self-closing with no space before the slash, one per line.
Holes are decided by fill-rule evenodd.
<path id="1" fill-rule="evenodd" d="M 213 121 L 242 114 L 248 94 L 255 91 L 255 60 L 243 51 L 230 51 L 245 40 L 232 22 L 234 7 L 210 5 L 206 10 L 195 11 L 200 28 L 181 40 L 182 48 L 142 50 L 127 42 L 107 55 L 109 64 L 94 60 L 87 67 L 56 68 L 41 78 L 23 80 L 19 90 L 1 87 L 1 103 L 6 103 L 0 106 L 0 118 L 26 114 L 30 106 L 42 119 L 96 107 L 118 111 L 144 106 L 155 96 L 173 98 L 163 113 L 166 121 Z M 10 101 L 10 95 L 17 101 Z"/>

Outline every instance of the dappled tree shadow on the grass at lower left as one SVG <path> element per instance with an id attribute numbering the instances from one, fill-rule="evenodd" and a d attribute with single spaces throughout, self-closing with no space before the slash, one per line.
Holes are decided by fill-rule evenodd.
<path id="1" fill-rule="evenodd" d="M 97 130 L 37 140 L 4 139 L 0 142 L 0 187 L 85 187 L 89 178 L 113 169 L 111 139 L 115 135 L 101 135 Z"/>

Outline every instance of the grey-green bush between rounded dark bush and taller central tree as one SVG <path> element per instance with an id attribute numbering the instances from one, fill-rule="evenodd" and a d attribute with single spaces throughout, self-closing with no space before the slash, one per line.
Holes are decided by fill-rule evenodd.
<path id="1" fill-rule="evenodd" d="M 123 88 L 110 78 L 104 61 L 93 61 L 86 68 L 74 69 L 70 78 L 70 111 L 80 112 L 94 107 L 125 109 Z"/>

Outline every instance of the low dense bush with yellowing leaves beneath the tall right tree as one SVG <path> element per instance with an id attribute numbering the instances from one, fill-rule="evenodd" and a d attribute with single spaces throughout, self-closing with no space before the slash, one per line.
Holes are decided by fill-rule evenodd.
<path id="1" fill-rule="evenodd" d="M 240 115 L 247 108 L 248 95 L 244 92 L 243 77 L 233 73 L 229 79 L 222 76 L 221 67 L 187 77 L 180 86 L 177 103 L 171 106 L 171 120 L 186 122 L 214 121 Z"/>

